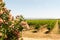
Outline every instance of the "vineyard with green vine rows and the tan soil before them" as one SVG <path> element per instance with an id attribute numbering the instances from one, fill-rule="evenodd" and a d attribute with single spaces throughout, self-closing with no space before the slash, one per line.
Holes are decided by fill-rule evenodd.
<path id="1" fill-rule="evenodd" d="M 53 38 L 54 40 L 58 40 L 60 38 L 60 29 L 59 29 L 60 20 L 57 20 L 57 19 L 27 19 L 26 21 L 29 24 L 30 28 L 32 29 L 30 29 L 29 31 L 23 31 L 23 37 Z"/>

